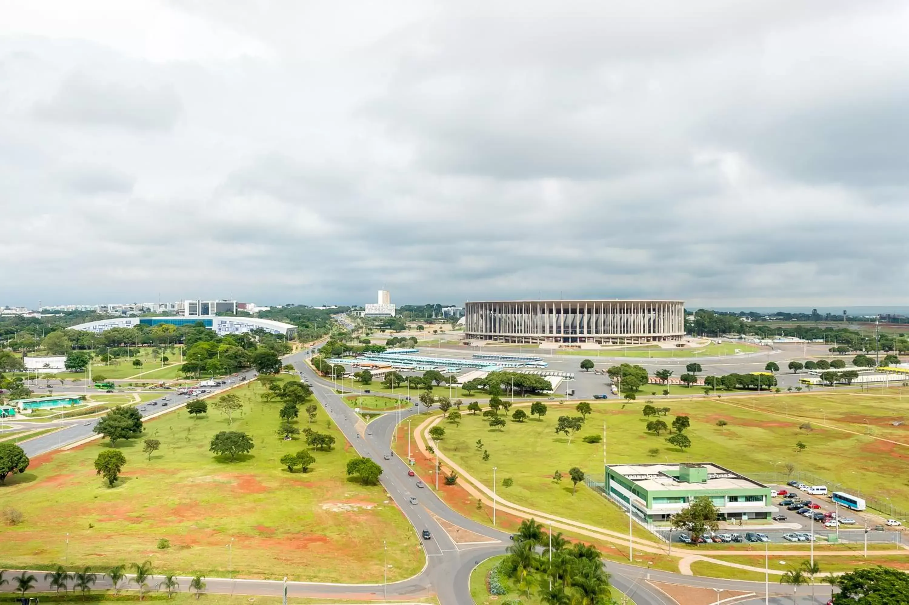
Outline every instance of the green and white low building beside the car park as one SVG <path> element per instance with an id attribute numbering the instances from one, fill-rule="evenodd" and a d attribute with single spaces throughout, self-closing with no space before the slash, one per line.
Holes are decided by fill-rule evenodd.
<path id="1" fill-rule="evenodd" d="M 605 491 L 646 525 L 668 520 L 701 496 L 714 502 L 721 520 L 769 519 L 778 510 L 770 488 L 710 462 L 609 464 Z"/>

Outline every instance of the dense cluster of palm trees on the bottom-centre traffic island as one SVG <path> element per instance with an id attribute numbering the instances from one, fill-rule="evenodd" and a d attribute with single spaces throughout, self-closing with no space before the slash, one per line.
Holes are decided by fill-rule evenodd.
<path id="1" fill-rule="evenodd" d="M 542 547 L 542 549 L 540 548 Z M 589 544 L 569 544 L 561 532 L 548 534 L 535 519 L 525 519 L 508 548 L 504 569 L 530 598 L 539 576 L 548 580 L 538 590 L 546 605 L 606 605 L 612 603 L 609 574 L 600 551 Z"/>

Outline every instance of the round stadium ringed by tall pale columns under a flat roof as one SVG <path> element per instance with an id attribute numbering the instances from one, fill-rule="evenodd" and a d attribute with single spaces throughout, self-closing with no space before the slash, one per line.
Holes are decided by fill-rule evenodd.
<path id="1" fill-rule="evenodd" d="M 684 300 L 486 300 L 464 304 L 464 338 L 634 345 L 681 340 Z"/>

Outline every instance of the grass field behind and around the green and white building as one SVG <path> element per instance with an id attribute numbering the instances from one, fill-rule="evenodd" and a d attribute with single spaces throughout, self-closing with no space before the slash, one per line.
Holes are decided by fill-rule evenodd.
<path id="1" fill-rule="evenodd" d="M 577 413 L 571 404 L 550 404 L 542 421 L 528 419 L 524 423 L 509 421 L 504 430 L 489 429 L 484 418 L 464 414 L 459 427 L 445 422 L 445 439 L 441 449 L 487 485 L 493 480 L 492 467 L 497 466 L 497 478 L 514 479 L 514 486 L 500 489 L 503 498 L 545 512 L 583 520 L 594 525 L 616 529 L 624 527 L 627 519 L 607 505 L 592 491 L 581 489 L 571 496 L 566 479 L 555 484 L 552 475 L 559 469 L 579 467 L 603 481 L 603 445 L 587 444 L 584 435 L 601 435 L 607 427 L 607 460 L 609 463 L 641 463 L 648 461 L 701 462 L 712 461 L 748 475 L 780 470 L 780 462 L 792 462 L 796 470 L 813 472 L 832 481 L 831 487 L 861 483 L 866 493 L 876 493 L 882 499 L 892 499 L 894 506 L 909 508 L 909 448 L 888 443 L 862 434 L 852 434 L 814 425 L 812 430 L 799 429 L 804 418 L 771 416 L 761 409 L 752 409 L 752 398 L 734 399 L 676 399 L 665 401 L 672 408 L 667 424 L 675 415 L 691 418 L 686 432 L 693 446 L 682 452 L 665 441 L 665 434 L 656 437 L 644 430 L 646 418 L 641 414 L 643 400 L 633 404 L 610 399 L 592 401 L 594 413 L 588 416 L 584 429 L 571 443 L 564 435 L 556 435 L 556 418 Z M 854 394 L 797 394 L 774 398 L 753 398 L 754 404 L 779 408 L 784 399 L 790 408 L 828 409 L 828 418 L 836 412 L 836 425 L 864 429 L 869 418 L 873 429 L 888 433 L 900 431 L 903 442 L 909 443 L 909 427 L 885 428 L 888 418 L 898 411 L 909 415 L 909 398 L 900 403 L 895 397 L 861 397 Z M 855 416 L 856 406 L 862 408 L 861 418 Z M 883 407 L 879 411 L 879 408 Z M 514 408 L 512 408 L 514 411 Z M 717 426 L 724 420 L 725 426 Z M 861 425 L 856 423 L 861 422 Z M 832 423 L 834 424 L 834 423 Z M 862 430 L 861 432 L 864 432 Z M 491 458 L 481 460 L 481 451 L 474 447 L 482 439 Z M 807 448 L 797 453 L 795 444 L 804 442 Z M 654 454 L 650 449 L 657 449 Z M 781 473 L 784 476 L 784 473 Z M 842 488 L 841 488 L 842 489 Z"/>

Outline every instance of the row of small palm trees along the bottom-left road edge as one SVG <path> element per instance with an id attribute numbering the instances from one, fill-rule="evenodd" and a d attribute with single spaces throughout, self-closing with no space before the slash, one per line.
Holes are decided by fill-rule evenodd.
<path id="1" fill-rule="evenodd" d="M 135 584 L 139 590 L 139 600 L 143 600 L 145 596 L 145 590 L 148 590 L 149 580 L 153 579 L 152 575 L 152 562 L 146 560 L 143 563 L 133 563 L 130 565 L 130 568 L 133 570 L 133 577 L 130 578 L 126 584 Z M 0 571 L 0 586 L 8 584 L 9 580 L 4 578 L 5 571 Z M 110 570 L 107 570 L 106 573 L 101 574 L 102 576 L 107 576 L 111 580 L 111 584 L 114 586 L 114 594 L 118 595 L 120 590 L 123 588 L 121 582 L 126 578 L 126 566 L 117 565 Z M 14 576 L 13 580 L 16 583 L 15 590 L 22 592 L 23 597 L 25 597 L 25 592 L 35 588 L 35 578 L 34 574 L 23 571 L 20 575 Z M 60 593 L 60 589 L 63 589 L 64 592 L 69 588 L 70 580 L 73 581 L 73 591 L 80 590 L 83 595 L 85 592 L 91 592 L 92 587 L 95 586 L 95 582 L 98 580 L 98 574 L 92 571 L 92 568 L 85 567 L 81 571 L 69 572 L 65 570 L 63 566 L 57 566 L 57 569 L 49 573 L 45 573 L 45 580 L 49 580 L 50 588 L 55 590 L 57 594 Z M 166 590 L 167 598 L 170 599 L 174 595 L 175 590 L 179 590 L 180 583 L 176 580 L 174 574 L 166 574 L 164 580 L 158 582 L 158 590 Z M 193 580 L 189 582 L 190 590 L 195 590 L 195 598 L 198 599 L 199 595 L 205 590 L 205 582 L 202 581 L 202 576 L 195 576 Z"/>

